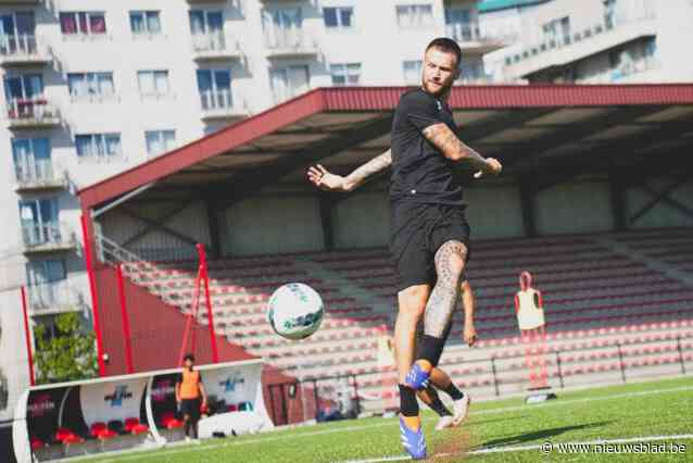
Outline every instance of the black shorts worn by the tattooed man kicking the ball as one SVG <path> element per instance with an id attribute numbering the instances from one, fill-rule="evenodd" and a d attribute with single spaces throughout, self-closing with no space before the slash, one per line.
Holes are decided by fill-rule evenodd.
<path id="1" fill-rule="evenodd" d="M 469 259 L 469 224 L 464 205 L 392 203 L 390 252 L 398 292 L 414 285 L 434 285 L 436 251 L 448 241 L 461 241 Z"/>

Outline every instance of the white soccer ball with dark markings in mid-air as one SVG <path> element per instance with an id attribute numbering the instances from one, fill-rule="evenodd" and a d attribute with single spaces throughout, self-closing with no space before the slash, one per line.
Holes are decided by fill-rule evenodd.
<path id="1" fill-rule="evenodd" d="M 305 339 L 323 323 L 325 306 L 320 295 L 302 283 L 279 287 L 267 304 L 267 322 L 282 338 Z"/>

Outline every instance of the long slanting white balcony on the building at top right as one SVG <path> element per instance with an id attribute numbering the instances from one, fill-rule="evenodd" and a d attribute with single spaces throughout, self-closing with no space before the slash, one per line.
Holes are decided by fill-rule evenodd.
<path id="1" fill-rule="evenodd" d="M 629 21 L 604 22 L 571 35 L 551 38 L 543 43 L 506 57 L 506 76 L 511 79 L 527 78 L 531 74 L 552 67 L 562 67 L 615 47 L 656 35 L 656 18 L 651 12 Z"/>

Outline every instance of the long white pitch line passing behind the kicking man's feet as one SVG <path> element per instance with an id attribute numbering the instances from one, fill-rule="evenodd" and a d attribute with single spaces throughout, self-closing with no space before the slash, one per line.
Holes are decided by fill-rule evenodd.
<path id="1" fill-rule="evenodd" d="M 659 395 L 659 393 L 691 391 L 691 390 L 693 390 L 693 386 L 680 386 L 680 387 L 668 388 L 668 389 L 653 389 L 653 390 L 643 390 L 643 391 L 637 391 L 637 392 L 613 393 L 609 396 L 601 396 L 601 397 L 587 397 L 583 399 L 551 401 L 551 402 L 533 404 L 531 405 L 531 408 L 538 409 L 538 408 L 565 406 L 565 405 L 570 405 L 575 403 L 595 402 L 600 400 L 625 399 L 630 397 L 653 396 L 653 395 Z M 514 411 L 520 411 L 520 410 L 526 411 L 528 410 L 527 409 L 528 406 L 529 405 L 514 405 L 514 406 L 505 406 L 502 409 L 479 410 L 477 412 L 471 411 L 469 412 L 469 415 L 486 415 L 486 414 L 495 414 L 495 413 L 503 413 L 503 412 L 514 412 Z M 434 420 L 434 417 L 425 418 L 425 421 L 431 421 L 431 420 Z M 354 430 L 374 429 L 374 428 L 379 428 L 383 426 L 391 426 L 392 424 L 393 424 L 392 421 L 388 420 L 386 423 L 373 424 L 367 426 L 344 426 L 344 427 L 338 427 L 333 429 L 320 429 L 320 430 L 314 430 L 314 431 L 307 431 L 307 433 L 291 434 L 286 436 L 269 436 L 269 437 L 264 437 L 259 439 L 248 439 L 248 440 L 242 440 L 239 442 L 224 442 L 220 445 L 204 445 L 203 443 L 201 446 L 196 446 L 196 447 L 186 446 L 186 447 L 180 447 L 180 448 L 175 448 L 169 450 L 162 449 L 156 452 L 156 456 L 198 451 L 198 450 L 220 449 L 225 447 L 248 446 L 252 443 L 272 442 L 276 440 L 294 439 L 300 437 L 313 437 L 313 436 L 322 436 L 322 435 L 329 435 L 329 434 L 337 434 L 337 433 L 349 433 Z M 93 459 L 97 459 L 97 458 L 98 455 L 93 456 Z M 101 463 L 115 463 L 115 462 L 127 461 L 127 460 L 137 460 L 140 458 L 142 458 L 142 452 L 136 452 L 134 454 L 125 454 L 123 456 L 115 456 L 113 459 L 102 460 Z M 399 456 L 393 456 L 393 458 L 398 459 Z M 89 458 L 85 460 L 88 460 L 88 459 Z M 369 460 L 366 460 L 366 461 L 369 461 Z M 399 460 L 374 460 L 374 461 L 386 462 L 386 461 L 399 461 Z"/>

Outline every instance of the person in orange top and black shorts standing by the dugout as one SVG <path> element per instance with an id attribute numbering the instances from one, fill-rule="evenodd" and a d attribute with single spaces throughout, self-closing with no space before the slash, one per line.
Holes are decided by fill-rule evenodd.
<path id="1" fill-rule="evenodd" d="M 189 353 L 185 356 L 185 367 L 176 383 L 176 403 L 185 423 L 186 440 L 198 439 L 198 422 L 200 409 L 206 408 L 207 396 L 200 380 L 200 372 L 193 370 L 194 356 Z M 202 399 L 202 402 L 200 402 Z"/>

